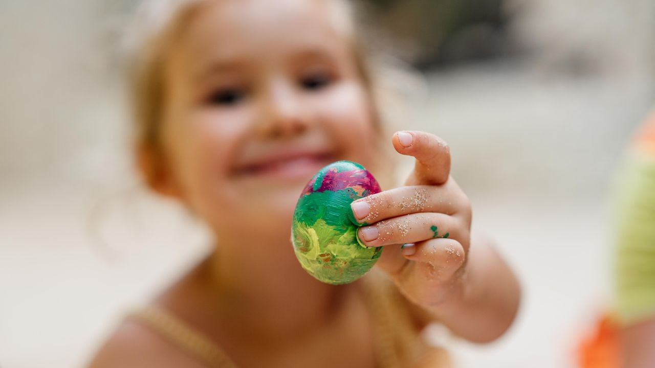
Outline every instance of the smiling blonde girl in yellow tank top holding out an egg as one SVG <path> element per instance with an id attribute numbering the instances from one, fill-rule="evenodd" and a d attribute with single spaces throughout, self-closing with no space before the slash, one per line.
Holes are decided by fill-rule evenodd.
<path id="1" fill-rule="evenodd" d="M 418 338 L 428 323 L 474 342 L 508 329 L 517 281 L 470 234 L 448 146 L 424 132 L 383 134 L 348 3 L 151 10 L 159 28 L 133 75 L 138 162 L 147 185 L 202 218 L 217 244 L 126 318 L 92 367 L 443 367 Z M 293 253 L 295 203 L 335 160 L 383 177 L 383 145 L 416 165 L 405 186 L 352 204 L 368 224 L 360 240 L 385 246 L 382 256 L 357 282 L 322 284 Z"/>

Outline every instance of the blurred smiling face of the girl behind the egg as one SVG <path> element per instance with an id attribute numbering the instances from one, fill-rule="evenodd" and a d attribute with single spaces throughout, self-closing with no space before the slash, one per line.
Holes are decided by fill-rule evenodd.
<path id="1" fill-rule="evenodd" d="M 216 230 L 288 232 L 322 166 L 373 164 L 371 101 L 332 10 L 211 1 L 179 35 L 166 71 L 164 185 Z"/>

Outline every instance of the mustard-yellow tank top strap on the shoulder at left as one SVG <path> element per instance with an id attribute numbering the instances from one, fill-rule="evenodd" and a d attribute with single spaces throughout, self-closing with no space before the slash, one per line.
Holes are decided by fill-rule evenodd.
<path id="1" fill-rule="evenodd" d="M 236 368 L 236 364 L 209 337 L 162 308 L 147 306 L 131 312 L 127 317 L 145 324 L 208 367 Z"/>

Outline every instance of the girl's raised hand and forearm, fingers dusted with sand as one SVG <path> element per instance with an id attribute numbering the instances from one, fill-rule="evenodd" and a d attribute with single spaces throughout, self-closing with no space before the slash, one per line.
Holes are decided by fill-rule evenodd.
<path id="1" fill-rule="evenodd" d="M 421 320 L 440 320 L 475 342 L 496 339 L 514 320 L 519 286 L 489 242 L 472 236 L 471 206 L 449 175 L 448 145 L 425 132 L 398 132 L 393 145 L 416 158 L 415 168 L 404 187 L 351 204 L 356 219 L 371 224 L 358 230 L 360 240 L 386 246 L 377 266 L 417 306 Z M 419 210 L 403 206 L 417 193 L 424 197 Z M 368 206 L 360 210 L 358 203 Z M 434 238 L 433 226 L 444 237 Z"/>

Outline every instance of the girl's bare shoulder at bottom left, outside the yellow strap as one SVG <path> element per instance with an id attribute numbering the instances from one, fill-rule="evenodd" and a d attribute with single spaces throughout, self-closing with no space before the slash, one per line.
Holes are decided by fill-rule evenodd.
<path id="1" fill-rule="evenodd" d="M 96 353 L 90 368 L 201 365 L 137 320 L 124 320 Z"/>

